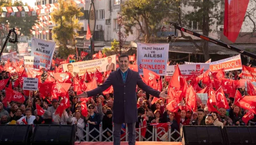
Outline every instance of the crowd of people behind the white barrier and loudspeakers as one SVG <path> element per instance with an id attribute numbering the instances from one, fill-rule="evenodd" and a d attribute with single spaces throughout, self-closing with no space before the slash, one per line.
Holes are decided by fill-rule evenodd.
<path id="1" fill-rule="evenodd" d="M 57 55 L 55 55 L 57 57 Z M 83 58 L 86 60 L 86 58 Z M 170 65 L 177 62 L 171 62 Z M 181 63 L 180 63 L 181 64 Z M 114 71 L 114 70 L 112 70 Z M 240 79 L 238 74 L 241 70 L 225 72 L 225 78 L 228 79 Z M 2 71 L 0 78 L 7 79 L 10 77 L 10 73 Z M 9 81 L 14 82 L 18 75 L 12 75 Z M 42 83 L 44 78 L 47 77 L 46 71 L 42 74 Z M 163 79 L 164 80 L 164 79 Z M 104 82 L 104 80 L 103 80 Z M 9 87 L 9 82 L 6 87 Z M 102 84 L 98 84 L 102 85 Z M 199 84 L 203 87 L 202 84 Z M 167 87 L 167 86 L 166 86 Z M 166 89 L 166 88 L 165 88 Z M 15 87 L 13 90 L 23 93 L 22 88 Z M 245 93 L 245 89 L 238 89 L 241 94 Z M 63 110 L 62 115 L 55 115 L 56 108 L 60 105 L 61 98 L 53 98 L 51 96 L 43 99 L 39 91 L 30 91 L 30 97 L 25 96 L 26 100 L 23 103 L 19 102 L 7 102 L 5 107 L 1 102 L 6 97 L 5 90 L 0 91 L 0 124 L 62 124 L 70 125 L 75 124 L 77 127 L 77 140 L 84 138 L 85 133 L 80 128 L 85 129 L 85 124 L 89 123 L 89 130 L 93 128 L 99 130 L 99 124 L 102 122 L 102 129 L 107 128 L 112 131 L 112 107 L 114 97 L 112 93 L 99 94 L 93 96 L 86 103 L 88 108 L 88 115 L 82 115 L 82 104 L 80 98 L 77 97 L 74 87 L 71 86 L 68 90 L 70 97 L 70 107 Z M 226 95 L 226 94 L 225 94 Z M 118 96 L 115 96 L 118 97 Z M 180 108 L 177 112 L 170 112 L 166 108 L 166 100 L 161 99 L 152 104 L 154 96 L 145 93 L 144 90 L 137 89 L 137 107 L 138 107 L 138 122 L 136 128 L 139 127 L 139 123 L 143 123 L 143 118 L 149 123 L 167 123 L 171 124 L 171 128 L 177 131 L 180 130 L 180 125 L 216 125 L 225 126 L 229 124 L 239 125 L 243 121 L 241 118 L 246 114 L 247 110 L 233 104 L 234 98 L 229 98 L 226 95 L 230 109 L 219 108 L 219 113 L 209 112 L 206 104 L 199 104 L 196 112 L 189 109 Z M 30 99 L 29 99 L 30 98 Z M 39 116 L 36 110 L 36 104 L 45 110 L 43 116 Z M 186 105 L 182 101 L 179 106 Z M 252 119 L 256 122 L 256 116 Z M 125 124 L 123 124 L 125 128 Z M 147 126 L 148 129 L 152 129 L 152 126 Z M 92 136 L 98 135 L 97 131 L 91 133 Z M 105 136 L 110 137 L 111 132 L 107 131 Z M 146 134 L 149 136 L 150 134 Z M 92 138 L 90 137 L 90 140 Z"/>

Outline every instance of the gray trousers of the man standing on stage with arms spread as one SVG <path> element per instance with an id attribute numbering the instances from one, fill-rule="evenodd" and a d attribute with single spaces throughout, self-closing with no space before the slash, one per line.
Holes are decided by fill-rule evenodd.
<path id="1" fill-rule="evenodd" d="M 135 137 L 136 137 L 135 124 L 136 123 L 128 123 L 127 124 L 127 127 L 128 127 L 128 144 L 129 145 L 135 145 Z M 122 124 L 114 123 L 114 131 L 113 131 L 114 145 L 120 145 L 121 127 L 122 127 Z"/>

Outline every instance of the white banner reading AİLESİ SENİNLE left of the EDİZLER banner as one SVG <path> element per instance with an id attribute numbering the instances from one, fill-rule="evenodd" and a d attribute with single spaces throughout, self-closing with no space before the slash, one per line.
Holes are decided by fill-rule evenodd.
<path id="1" fill-rule="evenodd" d="M 24 56 L 24 67 L 40 69 L 40 58 L 35 56 Z"/>

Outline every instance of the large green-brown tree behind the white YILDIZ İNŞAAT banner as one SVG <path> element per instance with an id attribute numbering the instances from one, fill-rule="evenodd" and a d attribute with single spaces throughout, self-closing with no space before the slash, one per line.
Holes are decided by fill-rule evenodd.
<path id="1" fill-rule="evenodd" d="M 124 19 L 126 34 L 132 34 L 132 27 L 138 26 L 144 34 L 144 42 L 150 40 L 167 19 L 170 12 L 172 0 L 129 0 L 121 6 L 121 14 Z"/>

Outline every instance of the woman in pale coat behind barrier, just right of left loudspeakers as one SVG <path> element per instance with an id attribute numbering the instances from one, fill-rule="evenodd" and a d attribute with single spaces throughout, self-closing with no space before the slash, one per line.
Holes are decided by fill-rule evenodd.
<path id="1" fill-rule="evenodd" d="M 84 136 L 83 130 L 80 129 L 80 128 L 84 128 L 85 126 L 84 120 L 81 118 L 81 115 L 82 115 L 81 111 L 76 110 L 75 117 L 73 117 L 72 112 L 70 112 L 68 117 L 68 122 L 76 125 L 76 133 L 77 133 L 77 136 L 79 137 L 79 139 L 77 140 L 83 139 L 83 136 Z"/>

